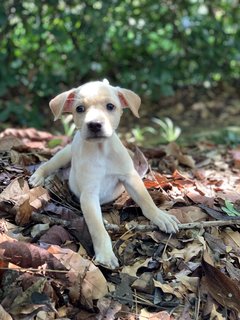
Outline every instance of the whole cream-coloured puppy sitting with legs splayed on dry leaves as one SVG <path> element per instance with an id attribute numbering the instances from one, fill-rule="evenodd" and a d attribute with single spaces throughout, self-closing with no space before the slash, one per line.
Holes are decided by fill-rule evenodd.
<path id="1" fill-rule="evenodd" d="M 31 185 L 43 185 L 48 175 L 71 162 L 69 186 L 80 199 L 95 259 L 112 269 L 118 267 L 118 260 L 100 205 L 116 199 L 124 188 L 160 230 L 178 231 L 179 221 L 156 207 L 115 133 L 123 109 L 130 108 L 139 117 L 140 103 L 134 92 L 113 87 L 107 81 L 89 82 L 56 96 L 50 101 L 55 120 L 70 112 L 78 130 L 72 144 L 41 165 L 30 178 Z"/>

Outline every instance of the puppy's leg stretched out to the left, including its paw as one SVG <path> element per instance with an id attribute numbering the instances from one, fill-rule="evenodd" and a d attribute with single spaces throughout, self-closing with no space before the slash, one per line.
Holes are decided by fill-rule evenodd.
<path id="1" fill-rule="evenodd" d="M 43 163 L 30 177 L 29 183 L 33 187 L 42 186 L 44 180 L 54 171 L 64 167 L 71 161 L 71 145 L 57 152 L 49 161 Z"/>

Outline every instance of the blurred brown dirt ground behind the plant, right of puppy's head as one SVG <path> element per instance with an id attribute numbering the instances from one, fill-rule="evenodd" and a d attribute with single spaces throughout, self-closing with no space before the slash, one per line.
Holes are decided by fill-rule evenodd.
<path id="1" fill-rule="evenodd" d="M 213 89 L 182 89 L 176 91 L 172 97 L 162 97 L 155 104 L 143 102 L 140 115 L 140 119 L 136 120 L 130 112 L 126 112 L 120 125 L 120 132 L 126 134 L 131 131 L 133 124 L 140 128 L 145 126 L 156 128 L 152 122 L 153 117 L 160 119 L 169 117 L 182 129 L 183 139 L 209 137 L 229 127 L 237 130 L 240 93 L 237 87 L 226 85 Z M 237 133 L 240 135 L 238 130 Z"/>

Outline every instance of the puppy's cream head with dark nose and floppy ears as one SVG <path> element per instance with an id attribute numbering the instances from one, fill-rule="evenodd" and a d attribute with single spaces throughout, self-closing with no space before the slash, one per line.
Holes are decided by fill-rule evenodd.
<path id="1" fill-rule="evenodd" d="M 57 120 L 70 112 L 81 136 L 86 140 L 111 137 L 117 129 L 123 109 L 130 108 L 136 117 L 141 100 L 134 92 L 111 86 L 107 80 L 88 82 L 56 96 L 50 108 Z"/>

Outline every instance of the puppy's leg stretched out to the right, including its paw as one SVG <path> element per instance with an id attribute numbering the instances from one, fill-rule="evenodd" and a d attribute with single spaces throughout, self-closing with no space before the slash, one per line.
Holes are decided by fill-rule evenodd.
<path id="1" fill-rule="evenodd" d="M 142 179 L 135 170 L 127 175 L 122 182 L 129 195 L 142 209 L 145 217 L 164 232 L 175 233 L 178 231 L 178 219 L 155 205 Z"/>

